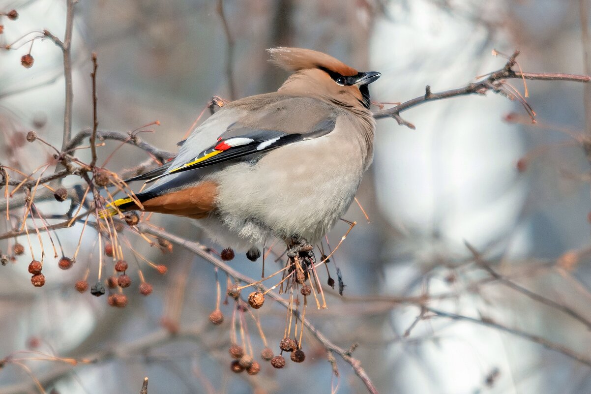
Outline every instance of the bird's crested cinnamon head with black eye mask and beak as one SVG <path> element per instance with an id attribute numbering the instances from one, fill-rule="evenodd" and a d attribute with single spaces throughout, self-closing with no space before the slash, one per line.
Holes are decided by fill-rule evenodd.
<path id="1" fill-rule="evenodd" d="M 320 96 L 338 105 L 369 109 L 368 85 L 380 73 L 358 72 L 326 53 L 310 49 L 279 47 L 268 51 L 272 62 L 294 72 L 279 92 Z"/>

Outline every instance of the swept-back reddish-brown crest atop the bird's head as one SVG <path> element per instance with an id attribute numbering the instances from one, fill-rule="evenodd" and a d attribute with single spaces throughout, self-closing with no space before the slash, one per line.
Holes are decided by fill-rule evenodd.
<path id="1" fill-rule="evenodd" d="M 268 49 L 268 52 L 273 63 L 288 71 L 327 69 L 342 76 L 358 74 L 357 70 L 340 60 L 311 49 L 278 47 Z"/>

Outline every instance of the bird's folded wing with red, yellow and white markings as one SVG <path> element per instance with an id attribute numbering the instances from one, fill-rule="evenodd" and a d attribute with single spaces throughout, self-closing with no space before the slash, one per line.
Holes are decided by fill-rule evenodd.
<path id="1" fill-rule="evenodd" d="M 320 137 L 335 128 L 337 117 L 335 107 L 323 101 L 277 93 L 253 96 L 225 106 L 215 115 L 216 127 L 220 126 L 219 120 L 223 120 L 225 112 L 232 122 L 216 140 L 211 140 L 211 132 L 207 130 L 210 125 L 205 122 L 187 138 L 177 159 L 161 173 L 154 170 L 155 176 L 147 182 Z M 240 114 L 238 120 L 235 114 Z M 199 148 L 205 142 L 199 138 L 202 134 L 209 134 L 210 138 L 204 149 Z"/>

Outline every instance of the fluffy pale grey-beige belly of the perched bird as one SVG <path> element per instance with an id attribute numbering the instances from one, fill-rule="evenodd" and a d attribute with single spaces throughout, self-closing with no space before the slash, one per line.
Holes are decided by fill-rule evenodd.
<path id="1" fill-rule="evenodd" d="M 216 176 L 220 217 L 240 237 L 301 235 L 319 240 L 345 214 L 363 164 L 350 151 L 317 138 L 271 151 L 256 164 L 239 163 Z"/>

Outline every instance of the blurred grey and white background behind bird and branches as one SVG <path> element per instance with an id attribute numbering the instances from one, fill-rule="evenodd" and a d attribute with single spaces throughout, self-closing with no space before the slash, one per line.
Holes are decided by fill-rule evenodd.
<path id="1" fill-rule="evenodd" d="M 379 71 L 372 99 L 400 102 L 423 95 L 426 85 L 444 91 L 502 68 L 506 57 L 493 50 L 521 50 L 524 71 L 585 73 L 581 20 L 589 3 L 225 0 L 228 40 L 216 1 L 80 1 L 72 43 L 73 131 L 92 123 L 91 51 L 99 63 L 99 128 L 125 133 L 158 120 L 154 133 L 141 138 L 176 151 L 213 95 L 235 99 L 281 85 L 287 75 L 267 62 L 269 47 L 320 50 Z M 18 20 L 0 17 L 1 46 L 44 29 L 63 37 L 65 1 L 0 0 L 0 12 L 13 8 Z M 0 163 L 25 173 L 47 163 L 51 150 L 26 144 L 24 134 L 35 130 L 60 146 L 64 108 L 60 50 L 50 40 L 30 45 L 0 51 Z M 20 59 L 29 50 L 35 63 L 25 69 Z M 524 93 L 521 80 L 508 83 Z M 326 288 L 329 308 L 309 308 L 306 317 L 341 347 L 359 344 L 353 356 L 380 393 L 591 389 L 584 85 L 531 81 L 527 89 L 536 124 L 521 104 L 492 92 L 404 112 L 417 130 L 378 121 L 374 164 L 358 193 L 370 221 L 358 206 L 350 208 L 346 219 L 358 225 L 334 259 L 345 295 Z M 107 141 L 99 162 L 117 146 Z M 80 157 L 90 156 L 80 151 Z M 108 167 L 119 172 L 146 159 L 125 146 Z M 71 178 L 67 185 L 79 183 Z M 57 202 L 41 206 L 46 213 L 67 211 Z M 155 215 L 151 222 L 220 248 L 188 219 Z M 3 221 L 2 232 L 5 227 Z M 347 228 L 339 224 L 329 234 L 333 247 Z M 73 254 L 80 230 L 58 232 L 66 253 Z M 7 363 L 0 392 L 39 392 L 35 379 L 47 392 L 138 392 L 144 376 L 150 393 L 329 393 L 335 386 L 342 394 L 366 392 L 339 357 L 340 377 L 333 376 L 326 350 L 309 334 L 304 363 L 283 370 L 265 363 L 254 377 L 232 373 L 232 308 L 222 306 L 221 326 L 207 319 L 216 302 L 213 267 L 180 247 L 163 254 L 134 237 L 134 248 L 168 273 L 142 269 L 154 292 L 129 292 L 124 309 L 74 290 L 86 269 L 98 270 L 92 231 L 83 235 L 72 270 L 47 259 L 43 288 L 29 283 L 28 248 L 0 267 L 0 357 L 34 350 L 96 361 L 74 368 L 61 361 Z M 25 237 L 18 241 L 27 244 Z M 0 250 L 12 244 L 0 241 Z M 260 274 L 260 261 L 237 256 L 230 264 L 251 277 Z M 324 272 L 321 277 L 326 281 Z M 284 309 L 275 305 L 259 314 L 277 352 Z M 170 322 L 180 327 L 177 336 L 168 334 Z M 261 337 L 252 322 L 249 328 L 258 354 Z M 25 356 L 34 354 L 14 358 Z"/>

